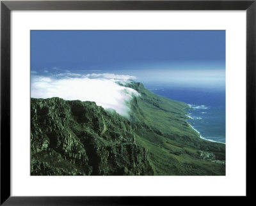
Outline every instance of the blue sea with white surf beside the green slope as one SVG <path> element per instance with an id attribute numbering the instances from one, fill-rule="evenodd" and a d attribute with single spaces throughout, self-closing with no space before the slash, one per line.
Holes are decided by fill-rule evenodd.
<path id="1" fill-rule="evenodd" d="M 206 140 L 225 143 L 225 91 L 213 89 L 191 89 L 154 87 L 145 85 L 148 90 L 166 98 L 187 103 L 188 122 Z"/>

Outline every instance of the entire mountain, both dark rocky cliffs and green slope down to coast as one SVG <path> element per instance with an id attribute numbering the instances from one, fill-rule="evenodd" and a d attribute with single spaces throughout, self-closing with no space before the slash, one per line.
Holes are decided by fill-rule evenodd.
<path id="1" fill-rule="evenodd" d="M 225 145 L 199 138 L 186 103 L 125 86 L 140 93 L 129 119 L 90 101 L 31 98 L 31 175 L 225 175 Z"/>

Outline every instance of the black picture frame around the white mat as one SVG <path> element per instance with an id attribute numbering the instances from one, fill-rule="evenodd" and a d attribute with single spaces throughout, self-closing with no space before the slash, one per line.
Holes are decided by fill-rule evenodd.
<path id="1" fill-rule="evenodd" d="M 1 205 L 151 205 L 156 196 L 10 196 L 10 12 L 12 10 L 246 10 L 246 197 L 253 197 L 255 159 L 256 0 L 1 1 Z M 174 197 L 173 197 L 174 198 Z M 177 197 L 176 197 L 177 198 Z M 182 197 L 184 198 L 184 197 Z M 154 201 L 153 201 L 154 200 Z"/>

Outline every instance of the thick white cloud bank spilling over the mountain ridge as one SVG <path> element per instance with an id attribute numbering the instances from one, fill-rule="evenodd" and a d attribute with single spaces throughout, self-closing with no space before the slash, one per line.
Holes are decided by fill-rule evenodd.
<path id="1" fill-rule="evenodd" d="M 135 77 L 111 73 L 80 75 L 60 73 L 55 76 L 32 76 L 31 97 L 60 97 L 66 100 L 95 101 L 105 109 L 111 108 L 129 117 L 129 101 L 140 94 L 116 82 L 129 82 Z"/>

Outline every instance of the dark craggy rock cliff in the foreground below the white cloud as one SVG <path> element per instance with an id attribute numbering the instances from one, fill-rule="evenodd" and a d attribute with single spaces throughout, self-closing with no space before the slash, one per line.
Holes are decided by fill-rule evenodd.
<path id="1" fill-rule="evenodd" d="M 31 175 L 152 175 L 131 122 L 90 101 L 31 98 Z"/>

